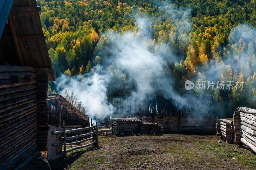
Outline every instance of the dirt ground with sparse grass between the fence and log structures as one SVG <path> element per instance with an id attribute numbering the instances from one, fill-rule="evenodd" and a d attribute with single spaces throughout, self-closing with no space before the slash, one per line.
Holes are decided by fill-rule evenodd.
<path id="1" fill-rule="evenodd" d="M 256 169 L 256 155 L 217 136 L 164 134 L 100 136 L 99 147 L 54 161 L 34 159 L 29 169 Z"/>

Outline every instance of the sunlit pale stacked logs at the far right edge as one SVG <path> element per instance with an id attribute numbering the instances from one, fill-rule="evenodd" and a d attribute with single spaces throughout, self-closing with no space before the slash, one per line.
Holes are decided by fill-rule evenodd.
<path id="1" fill-rule="evenodd" d="M 239 107 L 240 141 L 256 153 L 256 110 Z"/>

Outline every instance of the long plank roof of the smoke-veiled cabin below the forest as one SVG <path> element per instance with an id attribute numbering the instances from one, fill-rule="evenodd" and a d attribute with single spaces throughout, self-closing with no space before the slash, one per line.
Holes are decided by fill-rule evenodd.
<path id="1" fill-rule="evenodd" d="M 159 115 L 216 115 L 212 96 L 179 96 L 179 102 L 170 97 L 142 96 L 133 100 L 129 96 L 113 96 L 116 114 L 159 114 Z"/>

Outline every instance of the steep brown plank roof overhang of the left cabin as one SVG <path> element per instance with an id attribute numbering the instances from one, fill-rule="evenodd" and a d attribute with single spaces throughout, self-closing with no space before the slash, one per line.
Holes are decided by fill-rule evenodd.
<path id="1" fill-rule="evenodd" d="M 4 0 L 8 1 L 8 0 Z M 36 0 L 14 0 L 0 39 L 0 65 L 44 70 L 55 81 Z"/>

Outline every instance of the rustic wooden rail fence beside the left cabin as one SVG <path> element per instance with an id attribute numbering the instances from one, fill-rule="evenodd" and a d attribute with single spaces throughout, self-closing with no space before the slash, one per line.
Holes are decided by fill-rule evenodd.
<path id="1" fill-rule="evenodd" d="M 85 131 L 85 130 L 91 130 L 91 132 L 86 133 L 86 134 L 76 135 L 76 136 L 70 136 L 70 137 L 66 136 L 66 134 L 68 134 L 68 133 L 73 133 L 73 132 L 78 132 L 78 131 Z M 64 146 L 64 150 L 61 150 L 60 154 L 64 154 L 65 157 L 67 156 L 67 152 L 71 152 L 71 151 L 74 151 L 76 149 L 85 148 L 85 147 L 88 147 L 90 145 L 94 145 L 95 147 L 99 146 L 99 142 L 98 142 L 98 124 L 97 124 L 97 122 L 96 122 L 96 125 L 93 125 L 93 123 L 91 123 L 90 127 L 66 130 L 65 121 L 63 120 L 63 130 L 52 132 L 52 135 L 56 135 L 56 134 L 63 134 L 63 137 L 61 138 L 62 143 L 53 143 L 52 145 L 54 145 L 54 146 Z M 77 138 L 87 137 L 87 136 L 89 137 L 87 139 L 67 143 L 67 141 L 71 141 L 71 140 L 74 140 L 74 139 L 77 139 Z M 76 144 L 83 143 L 83 142 L 86 142 L 86 141 L 89 141 L 89 140 L 92 140 L 92 143 L 66 149 L 67 145 L 76 145 Z"/>

